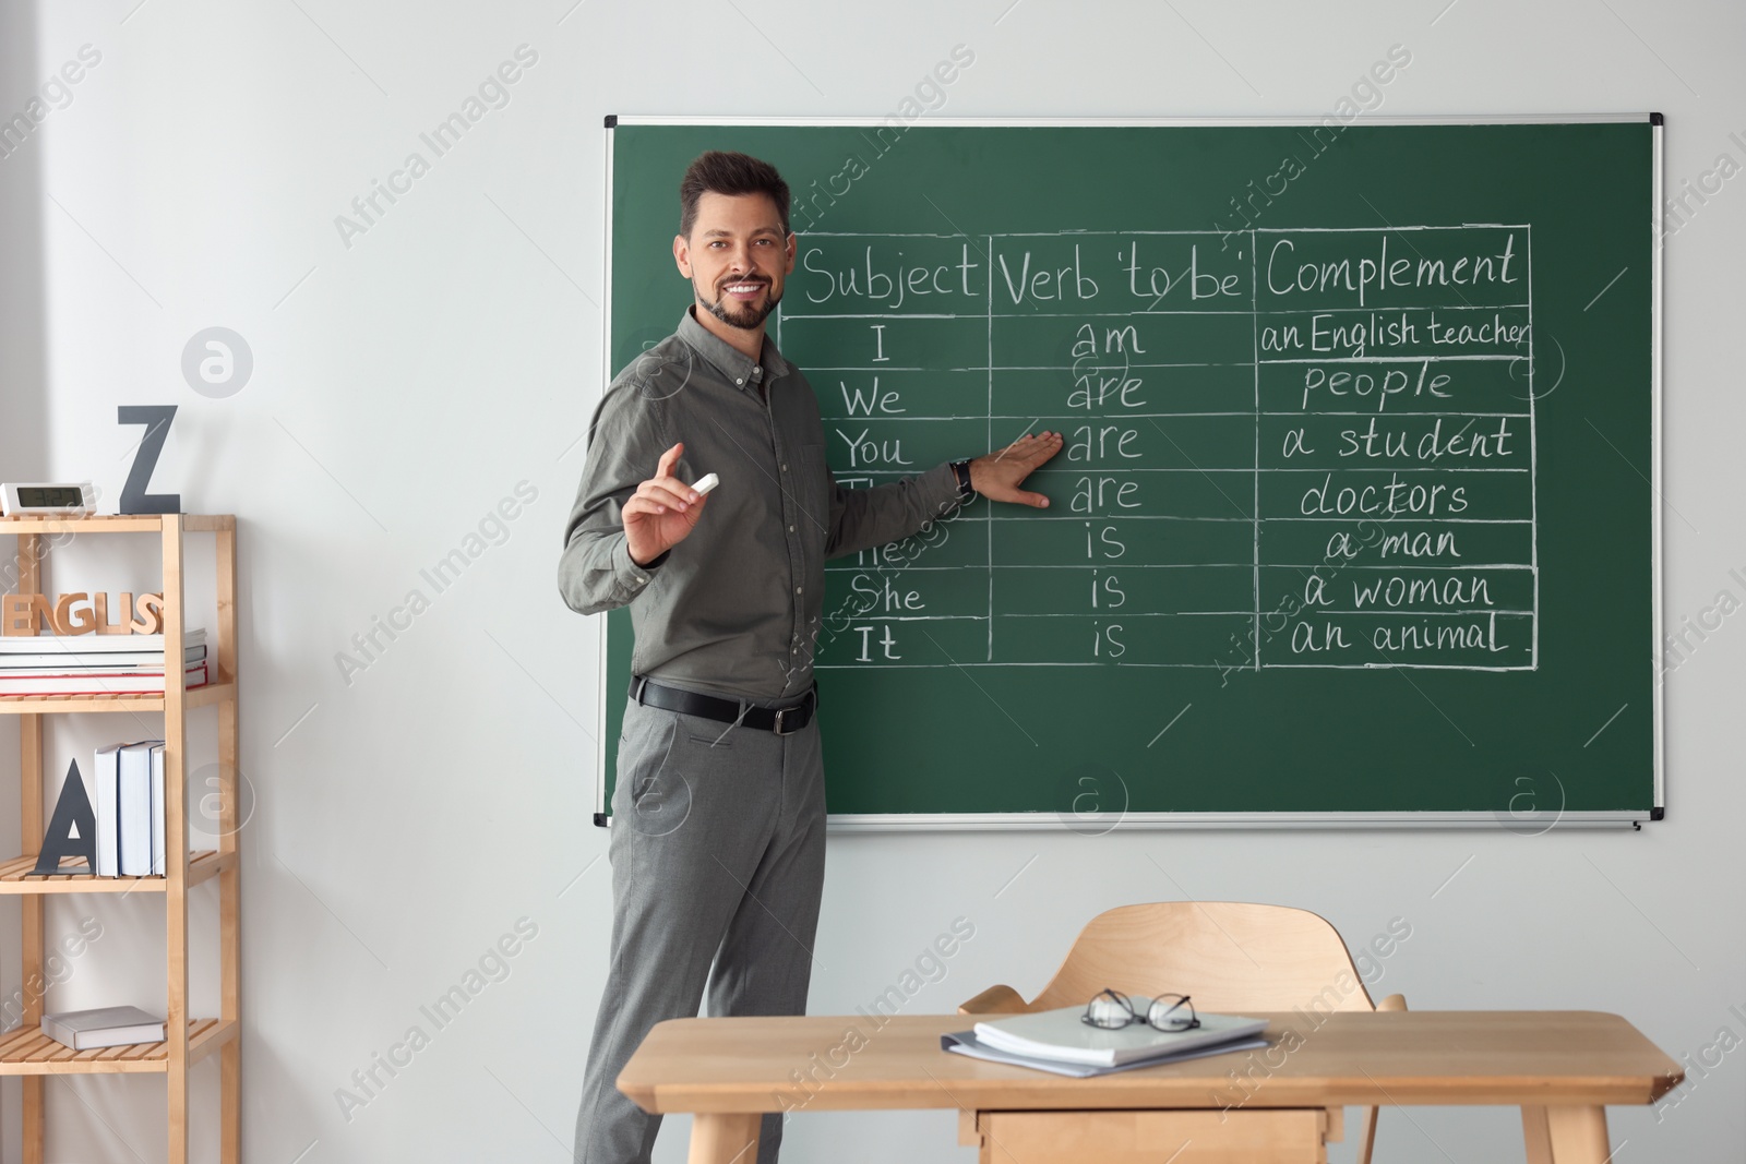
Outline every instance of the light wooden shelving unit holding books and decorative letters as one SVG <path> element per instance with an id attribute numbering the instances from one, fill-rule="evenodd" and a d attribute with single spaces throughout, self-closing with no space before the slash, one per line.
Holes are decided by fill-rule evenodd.
<path id="1" fill-rule="evenodd" d="M 236 709 L 236 518 L 229 515 L 0 518 L 0 532 L 17 537 L 17 593 L 47 593 L 47 536 L 51 534 L 157 534 L 164 558 L 164 674 L 162 695 L 49 695 L 0 696 L 0 714 L 19 717 L 19 796 L 23 825 L 19 855 L 0 860 L 0 894 L 17 894 L 23 911 L 23 981 L 44 967 L 44 899 L 49 894 L 162 894 L 166 1031 L 161 1044 L 70 1051 L 44 1037 L 42 995 L 26 991 L 24 1021 L 0 1035 L 0 1075 L 21 1075 L 24 1084 L 24 1164 L 44 1164 L 42 1087 L 47 1075 L 140 1073 L 166 1078 L 169 1106 L 169 1164 L 189 1159 L 189 1068 L 220 1056 L 220 1133 L 223 1164 L 239 1164 L 241 1134 L 241 890 L 237 885 L 237 709 Z M 183 592 L 183 539 L 210 532 L 217 539 L 217 642 L 208 646 L 208 684 L 182 689 L 182 633 L 187 625 Z M 189 852 L 187 834 L 187 714 L 218 709 L 218 848 Z M 35 866 L 44 831 L 45 716 L 75 712 L 161 712 L 164 716 L 164 848 L 161 878 L 26 878 Z M 80 764 L 84 770 L 86 764 Z M 189 1017 L 189 890 L 218 878 L 218 1017 Z"/>

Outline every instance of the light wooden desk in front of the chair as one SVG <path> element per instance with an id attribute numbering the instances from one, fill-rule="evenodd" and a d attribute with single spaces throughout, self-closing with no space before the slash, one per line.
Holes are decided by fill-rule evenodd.
<path id="1" fill-rule="evenodd" d="M 1653 1103 L 1685 1078 L 1592 1010 L 1266 1017 L 1264 1051 L 1098 1078 L 946 1054 L 941 1033 L 974 1023 L 959 1014 L 677 1019 L 650 1031 L 618 1089 L 646 1112 L 695 1113 L 691 1164 L 754 1159 L 763 1112 L 883 1108 L 957 1108 L 983 1164 L 1156 1161 L 1184 1141 L 1175 1164 L 1316 1162 L 1344 1105 L 1519 1106 L 1529 1164 L 1605 1164 L 1605 1105 Z"/>

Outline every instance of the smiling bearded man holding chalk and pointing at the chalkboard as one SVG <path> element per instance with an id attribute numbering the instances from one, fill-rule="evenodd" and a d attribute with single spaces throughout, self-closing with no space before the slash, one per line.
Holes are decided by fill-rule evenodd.
<path id="1" fill-rule="evenodd" d="M 650 1159 L 660 1117 L 615 1080 L 655 1023 L 697 1014 L 705 983 L 711 1014 L 805 1012 L 824 885 L 824 558 L 906 537 L 974 494 L 1046 506 L 1020 485 L 1062 447 L 1037 433 L 892 485 L 838 487 L 812 387 L 765 337 L 794 270 L 787 183 L 711 152 L 679 202 L 672 257 L 697 302 L 606 389 L 559 564 L 573 611 L 629 604 L 636 628 L 578 1164 Z M 690 483 L 705 473 L 721 485 L 700 496 Z M 763 1164 L 780 1134 L 766 1117 Z"/>

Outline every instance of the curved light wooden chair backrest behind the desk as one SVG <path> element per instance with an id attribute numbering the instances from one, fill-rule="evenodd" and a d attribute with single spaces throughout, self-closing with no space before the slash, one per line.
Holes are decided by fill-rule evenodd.
<path id="1" fill-rule="evenodd" d="M 1198 1010 L 1374 1010 L 1346 942 L 1308 909 L 1168 900 L 1091 918 L 1028 1010 L 1112 988 L 1193 995 Z"/>

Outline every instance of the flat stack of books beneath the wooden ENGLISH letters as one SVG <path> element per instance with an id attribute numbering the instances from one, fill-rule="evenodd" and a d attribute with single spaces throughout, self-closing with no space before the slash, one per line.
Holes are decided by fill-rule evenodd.
<path id="1" fill-rule="evenodd" d="M 182 684 L 206 686 L 206 632 L 182 635 Z M 164 689 L 164 635 L 0 635 L 0 695 Z"/>

